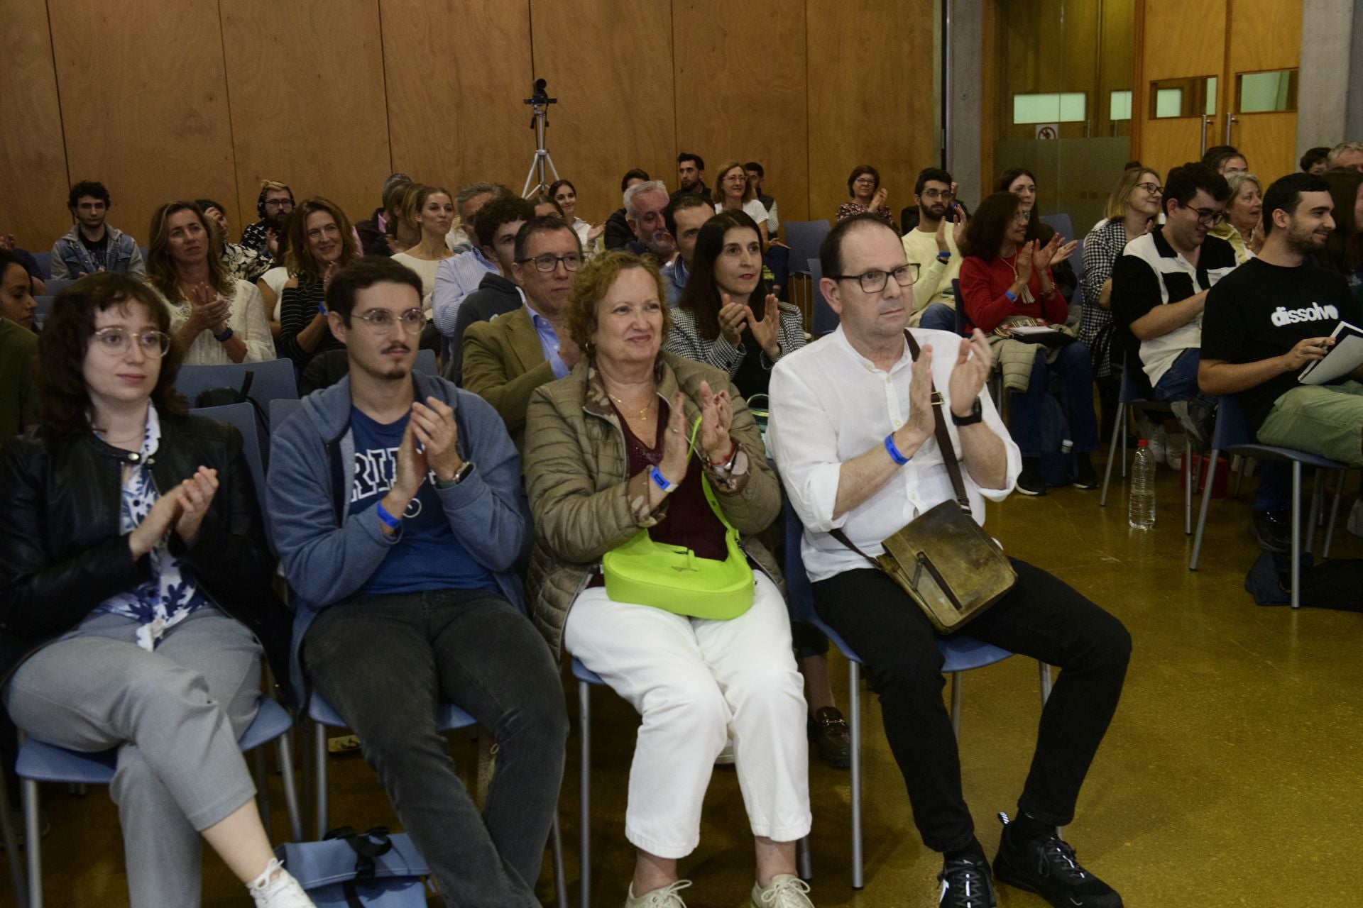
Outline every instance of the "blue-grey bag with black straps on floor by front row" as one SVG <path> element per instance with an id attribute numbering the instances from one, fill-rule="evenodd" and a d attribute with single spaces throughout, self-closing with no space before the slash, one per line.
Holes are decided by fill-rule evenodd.
<path id="1" fill-rule="evenodd" d="M 274 854 L 318 908 L 425 908 L 431 870 L 406 833 L 342 826 Z"/>

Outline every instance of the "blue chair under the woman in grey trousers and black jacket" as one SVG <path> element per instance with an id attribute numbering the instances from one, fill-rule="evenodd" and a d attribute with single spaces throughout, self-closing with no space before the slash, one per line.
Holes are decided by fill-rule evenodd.
<path id="1" fill-rule="evenodd" d="M 289 811 L 289 832 L 296 841 L 303 840 L 303 821 L 298 815 L 298 796 L 293 787 L 293 753 L 289 730 L 293 720 L 289 713 L 270 697 L 260 698 L 255 720 L 239 741 L 243 753 L 255 750 L 263 743 L 277 741 L 279 745 L 279 769 L 284 781 L 284 799 Z M 61 781 L 83 785 L 108 785 L 119 764 L 119 750 L 82 753 L 67 750 L 27 735 L 19 746 L 15 772 L 22 784 L 25 847 L 29 852 L 29 908 L 42 908 L 42 829 L 38 821 L 38 783 Z M 260 815 L 270 826 L 269 788 L 264 779 L 264 751 L 256 751 L 256 788 L 260 794 Z"/>

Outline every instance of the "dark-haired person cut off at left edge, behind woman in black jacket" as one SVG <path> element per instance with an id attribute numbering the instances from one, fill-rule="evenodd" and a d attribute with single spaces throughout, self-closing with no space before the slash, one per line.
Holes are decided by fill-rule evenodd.
<path id="1" fill-rule="evenodd" d="M 0 249 L 0 451 L 38 422 L 38 338 L 29 272 L 12 252 Z"/>

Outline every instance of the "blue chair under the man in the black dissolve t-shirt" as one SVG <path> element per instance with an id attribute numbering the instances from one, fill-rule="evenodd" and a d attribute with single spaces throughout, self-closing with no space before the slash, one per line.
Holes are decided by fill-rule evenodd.
<path id="1" fill-rule="evenodd" d="M 1240 399 L 1236 395 L 1224 395 L 1216 407 L 1216 427 L 1212 430 L 1212 457 L 1206 471 L 1206 487 L 1202 490 L 1202 506 L 1198 510 L 1197 535 L 1193 538 L 1193 557 L 1189 560 L 1189 570 L 1197 570 L 1198 557 L 1202 553 L 1202 531 L 1206 528 L 1206 513 L 1212 504 L 1212 482 L 1216 479 L 1216 457 L 1221 452 L 1240 455 L 1242 457 L 1258 457 L 1259 460 L 1287 460 L 1292 464 L 1292 607 L 1300 609 L 1302 591 L 1302 467 L 1315 467 L 1317 470 L 1336 470 L 1340 472 L 1340 482 L 1334 491 L 1334 505 L 1330 508 L 1330 525 L 1325 534 L 1325 554 L 1330 551 L 1330 538 L 1334 534 L 1334 516 L 1340 509 L 1340 493 L 1344 489 L 1344 470 L 1348 464 L 1330 460 L 1306 451 L 1295 448 L 1278 448 L 1264 445 L 1254 440 L 1249 423 L 1244 421 L 1244 411 L 1240 408 Z M 1304 550 L 1311 550 L 1311 538 L 1315 536 L 1315 524 L 1321 516 L 1321 475 L 1315 475 L 1315 485 L 1311 490 L 1311 513 L 1307 520 L 1308 536 Z"/>

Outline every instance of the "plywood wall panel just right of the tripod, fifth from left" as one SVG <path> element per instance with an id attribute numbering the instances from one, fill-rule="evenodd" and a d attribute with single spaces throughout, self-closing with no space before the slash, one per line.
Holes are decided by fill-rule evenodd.
<path id="1" fill-rule="evenodd" d="M 534 75 L 559 98 L 547 144 L 578 189 L 579 216 L 600 223 L 619 208 L 620 177 L 631 167 L 675 187 L 671 5 L 530 0 L 530 26 Z M 522 181 L 529 166 L 526 154 Z"/>

